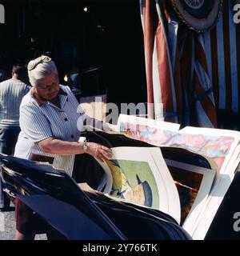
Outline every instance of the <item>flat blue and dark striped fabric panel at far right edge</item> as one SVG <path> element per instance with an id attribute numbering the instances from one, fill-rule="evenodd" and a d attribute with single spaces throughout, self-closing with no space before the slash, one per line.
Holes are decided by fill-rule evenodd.
<path id="1" fill-rule="evenodd" d="M 219 110 L 239 112 L 240 30 L 234 24 L 234 1 L 224 1 L 217 26 L 206 34 L 210 37 L 208 63 Z"/>

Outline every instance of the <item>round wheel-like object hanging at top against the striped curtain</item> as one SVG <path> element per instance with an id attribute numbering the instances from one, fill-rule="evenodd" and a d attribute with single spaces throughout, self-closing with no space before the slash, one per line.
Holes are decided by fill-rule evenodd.
<path id="1" fill-rule="evenodd" d="M 209 30 L 218 21 L 223 0 L 170 0 L 178 17 L 197 32 Z"/>

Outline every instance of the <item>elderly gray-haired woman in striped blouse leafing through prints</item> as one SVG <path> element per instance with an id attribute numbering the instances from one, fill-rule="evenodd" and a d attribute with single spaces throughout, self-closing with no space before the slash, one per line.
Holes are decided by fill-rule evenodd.
<path id="1" fill-rule="evenodd" d="M 36 58 L 29 62 L 28 74 L 33 87 L 20 106 L 21 133 L 14 155 L 50 162 L 70 175 L 75 154 L 91 154 L 100 161 L 111 158 L 111 150 L 106 146 L 78 142 L 82 127 L 77 127 L 77 123 L 84 124 L 90 118 L 78 113 L 78 101 L 70 88 L 59 85 L 54 62 L 47 56 Z M 79 118 L 82 122 L 78 122 Z M 110 124 L 105 127 L 110 129 Z M 16 239 L 31 239 L 34 234 L 41 233 L 34 227 L 33 218 L 33 212 L 18 201 Z"/>

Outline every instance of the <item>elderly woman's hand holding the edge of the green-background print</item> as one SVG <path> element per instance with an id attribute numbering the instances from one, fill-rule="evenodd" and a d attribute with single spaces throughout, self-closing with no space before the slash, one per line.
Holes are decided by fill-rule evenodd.
<path id="1" fill-rule="evenodd" d="M 92 155 L 94 158 L 98 158 L 101 162 L 112 158 L 112 150 L 106 146 L 102 146 L 98 143 L 87 142 L 86 153 Z"/>

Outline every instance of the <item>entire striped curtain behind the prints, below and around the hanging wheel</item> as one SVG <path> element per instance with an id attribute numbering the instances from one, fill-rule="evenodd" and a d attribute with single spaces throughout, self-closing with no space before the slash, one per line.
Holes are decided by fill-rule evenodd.
<path id="1" fill-rule="evenodd" d="M 217 127 L 218 110 L 239 113 L 240 25 L 234 24 L 234 1 L 224 1 L 217 25 L 204 34 L 186 29 L 168 1 L 140 1 L 151 117 Z"/>

